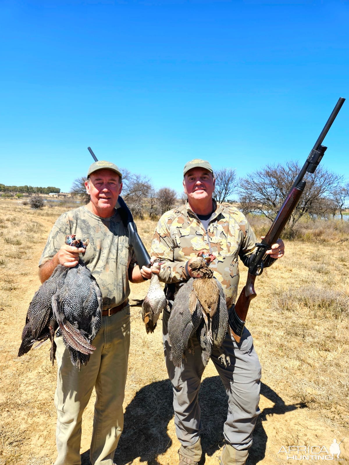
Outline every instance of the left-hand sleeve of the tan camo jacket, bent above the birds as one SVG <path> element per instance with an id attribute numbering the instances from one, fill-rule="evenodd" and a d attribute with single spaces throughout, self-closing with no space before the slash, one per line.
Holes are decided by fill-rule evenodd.
<path id="1" fill-rule="evenodd" d="M 185 274 L 185 265 L 188 259 L 183 257 L 181 261 L 175 260 L 175 248 L 178 246 L 171 237 L 167 219 L 168 214 L 165 213 L 161 216 L 155 228 L 150 255 L 154 255 L 165 262 L 161 266 L 159 279 L 165 283 L 176 283 L 188 279 Z"/>

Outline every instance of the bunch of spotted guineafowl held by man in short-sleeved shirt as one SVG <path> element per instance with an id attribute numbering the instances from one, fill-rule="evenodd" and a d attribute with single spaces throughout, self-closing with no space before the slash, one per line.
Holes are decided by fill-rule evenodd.
<path id="1" fill-rule="evenodd" d="M 88 240 L 81 242 L 71 234 L 66 236 L 66 243 L 86 249 Z M 91 342 L 101 328 L 101 312 L 101 290 L 83 261 L 79 259 L 72 268 L 56 266 L 29 304 L 18 356 L 36 342 L 39 344 L 35 348 L 50 339 L 50 360 L 54 364 L 56 333 L 63 336 L 73 365 L 80 369 L 95 350 Z"/>

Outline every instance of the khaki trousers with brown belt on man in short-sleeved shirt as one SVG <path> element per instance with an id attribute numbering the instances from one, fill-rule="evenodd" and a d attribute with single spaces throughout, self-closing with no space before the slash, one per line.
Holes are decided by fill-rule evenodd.
<path id="1" fill-rule="evenodd" d="M 72 365 L 62 337 L 57 344 L 56 441 L 54 465 L 80 465 L 82 413 L 96 390 L 94 423 L 90 446 L 92 465 L 113 465 L 123 428 L 122 402 L 125 394 L 130 345 L 130 307 L 102 317 L 101 330 L 92 344 L 96 350 L 81 371 Z"/>

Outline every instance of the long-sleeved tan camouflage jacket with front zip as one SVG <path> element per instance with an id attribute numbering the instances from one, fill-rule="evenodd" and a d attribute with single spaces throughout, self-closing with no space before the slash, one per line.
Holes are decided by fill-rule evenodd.
<path id="1" fill-rule="evenodd" d="M 207 230 L 188 203 L 164 213 L 155 229 L 151 254 L 165 262 L 160 279 L 179 283 L 188 279 L 187 261 L 198 252 L 211 252 L 216 259 L 210 267 L 221 283 L 227 306 L 233 305 L 239 284 L 239 263 L 255 252 L 256 237 L 246 217 L 234 206 L 213 202 Z M 246 259 L 246 260 L 245 260 Z M 176 289 L 178 288 L 176 285 Z"/>

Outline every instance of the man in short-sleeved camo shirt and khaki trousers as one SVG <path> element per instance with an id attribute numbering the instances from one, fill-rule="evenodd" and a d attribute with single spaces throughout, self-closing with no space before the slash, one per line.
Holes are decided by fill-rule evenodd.
<path id="1" fill-rule="evenodd" d="M 93 340 L 96 347 L 87 365 L 79 371 L 70 361 L 62 337 L 55 337 L 58 366 L 54 402 L 57 408 L 57 459 L 54 465 L 81 463 L 81 419 L 95 387 L 94 425 L 90 447 L 92 465 L 113 465 L 123 428 L 123 409 L 130 344 L 129 281 L 149 279 L 152 269 L 136 263 L 128 245 L 128 231 L 115 209 L 122 182 L 119 168 L 107 161 L 93 163 L 87 173 L 90 202 L 57 219 L 40 259 L 40 279 L 48 279 L 60 264 L 76 266 L 77 249 L 65 244 L 67 234 L 89 239 L 85 262 L 101 288 L 101 329 Z"/>

